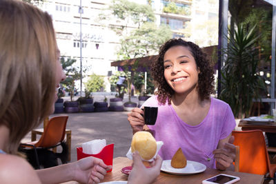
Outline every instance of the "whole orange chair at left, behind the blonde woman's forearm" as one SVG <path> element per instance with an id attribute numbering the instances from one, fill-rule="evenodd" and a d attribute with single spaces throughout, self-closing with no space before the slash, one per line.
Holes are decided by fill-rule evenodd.
<path id="1" fill-rule="evenodd" d="M 50 119 L 49 122 L 47 123 L 39 141 L 32 141 L 29 143 L 21 143 L 19 150 L 24 150 L 24 149 L 34 150 L 34 156 L 35 156 L 35 160 L 37 163 L 37 168 L 40 168 L 39 155 L 38 155 L 37 150 L 38 149 L 48 150 L 53 147 L 62 145 L 64 136 L 66 133 L 67 121 L 68 121 L 68 116 L 52 117 L 52 119 Z M 63 146 L 63 150 L 65 150 L 64 148 L 65 147 Z M 68 150 L 67 150 L 67 152 L 68 152 Z M 59 155 L 59 154 L 56 154 L 56 155 Z M 62 159 L 61 159 L 62 163 L 66 162 L 66 160 L 63 158 L 68 158 L 68 156 L 67 155 L 64 157 L 62 156 Z"/>

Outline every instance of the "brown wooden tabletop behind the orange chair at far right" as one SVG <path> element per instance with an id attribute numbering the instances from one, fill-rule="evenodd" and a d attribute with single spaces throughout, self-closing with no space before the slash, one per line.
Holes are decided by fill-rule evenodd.
<path id="1" fill-rule="evenodd" d="M 239 127 L 242 127 L 242 130 L 262 130 L 262 132 L 276 133 L 276 123 L 274 122 L 256 121 L 248 123 L 248 121 L 241 120 L 239 121 Z"/>

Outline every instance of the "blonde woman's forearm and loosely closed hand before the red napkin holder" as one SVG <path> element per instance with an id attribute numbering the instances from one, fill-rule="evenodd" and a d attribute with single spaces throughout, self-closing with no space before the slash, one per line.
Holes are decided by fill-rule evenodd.
<path id="1" fill-rule="evenodd" d="M 74 163 L 37 170 L 37 174 L 42 183 L 99 183 L 110 169 L 111 166 L 104 164 L 101 159 L 89 156 Z"/>

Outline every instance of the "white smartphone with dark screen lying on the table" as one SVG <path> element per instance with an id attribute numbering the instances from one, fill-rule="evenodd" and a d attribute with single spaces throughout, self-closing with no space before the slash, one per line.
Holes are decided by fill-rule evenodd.
<path id="1" fill-rule="evenodd" d="M 202 181 L 202 184 L 214 184 L 214 183 L 230 184 L 230 183 L 235 183 L 239 180 L 240 180 L 240 178 L 238 176 L 232 176 L 232 175 L 228 175 L 228 174 L 219 174 L 217 176 L 214 176 L 212 178 L 208 178 L 208 179 Z"/>

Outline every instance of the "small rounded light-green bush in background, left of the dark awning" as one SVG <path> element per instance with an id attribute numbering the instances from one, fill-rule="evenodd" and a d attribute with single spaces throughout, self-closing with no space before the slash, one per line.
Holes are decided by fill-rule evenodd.
<path id="1" fill-rule="evenodd" d="M 99 76 L 97 74 L 90 75 L 90 78 L 85 83 L 86 90 L 88 92 L 99 92 L 103 88 L 103 76 Z"/>

